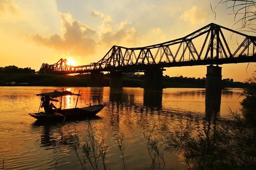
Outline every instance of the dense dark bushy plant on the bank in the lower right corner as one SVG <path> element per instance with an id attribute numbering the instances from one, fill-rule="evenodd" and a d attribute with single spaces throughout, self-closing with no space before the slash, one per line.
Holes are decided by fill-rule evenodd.
<path id="1" fill-rule="evenodd" d="M 166 150 L 182 154 L 187 168 L 248 169 L 256 167 L 256 129 L 246 124 L 242 114 L 231 112 L 233 129 L 225 125 L 208 126 L 197 135 L 176 130 L 166 137 Z"/>

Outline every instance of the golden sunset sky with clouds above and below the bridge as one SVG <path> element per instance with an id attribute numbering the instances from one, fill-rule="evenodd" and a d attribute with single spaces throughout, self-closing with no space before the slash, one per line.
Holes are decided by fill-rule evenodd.
<path id="1" fill-rule="evenodd" d="M 0 0 L 0 67 L 39 70 L 60 58 L 85 65 L 113 45 L 141 47 L 181 38 L 209 23 L 228 28 L 232 9 L 216 0 Z M 252 33 L 247 33 L 253 35 Z M 224 78 L 244 81 L 255 63 L 224 64 Z M 206 66 L 166 68 L 164 75 L 205 77 Z"/>

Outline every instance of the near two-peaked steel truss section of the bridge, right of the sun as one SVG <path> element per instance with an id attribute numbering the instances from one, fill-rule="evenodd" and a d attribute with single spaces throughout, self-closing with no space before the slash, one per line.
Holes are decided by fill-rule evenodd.
<path id="1" fill-rule="evenodd" d="M 244 41 L 239 44 L 239 47 L 233 53 L 230 50 L 230 45 L 228 45 L 228 42 L 226 41 L 223 30 L 244 37 Z M 204 35 L 206 36 L 202 46 L 199 48 L 196 47 L 193 41 L 196 41 L 199 37 Z M 105 67 L 117 67 L 140 63 L 158 64 L 161 62 L 171 63 L 186 60 L 213 60 L 218 58 L 238 57 L 244 53 L 245 50 L 247 50 L 247 56 L 249 56 L 249 46 L 253 44 L 252 49 L 255 49 L 255 39 L 255 36 L 248 36 L 211 23 L 183 38 L 167 41 L 161 44 L 136 48 L 113 46 L 97 63 L 104 64 Z M 206 45 L 207 42 L 208 45 Z M 178 45 L 177 50 L 172 48 L 174 45 Z M 182 46 L 183 50 L 181 48 Z M 155 50 L 155 52 L 153 52 L 153 50 Z M 236 56 L 238 51 L 239 55 Z M 202 57 L 203 52 L 204 56 Z M 178 55 L 179 53 L 181 55 Z M 188 58 L 185 58 L 185 53 L 188 53 Z"/>

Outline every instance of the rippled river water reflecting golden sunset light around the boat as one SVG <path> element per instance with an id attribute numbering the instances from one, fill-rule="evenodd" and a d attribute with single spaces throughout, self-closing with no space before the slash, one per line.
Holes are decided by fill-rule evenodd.
<path id="1" fill-rule="evenodd" d="M 205 101 L 204 89 L 167 88 L 144 90 L 124 87 L 64 87 L 78 93 L 78 107 L 86 104 L 105 103 L 105 108 L 90 120 L 41 124 L 28 113 L 38 112 L 40 98 L 34 94 L 61 91 L 60 87 L 0 87 L 0 166 L 5 159 L 5 169 L 82 169 L 71 147 L 70 135 L 76 135 L 80 143 L 86 140 L 88 124 L 95 133 L 105 135 L 108 144 L 107 169 L 123 169 L 122 153 L 116 137 L 123 136 L 124 163 L 126 169 L 149 169 L 152 161 L 143 132 L 153 137 L 165 138 L 177 129 L 188 125 L 194 134 L 225 125 L 231 128 L 229 109 L 240 108 L 241 89 L 225 89 L 221 102 Z M 60 100 L 60 98 L 59 98 Z M 60 102 L 54 102 L 59 107 Z M 73 108 L 75 96 L 63 97 L 62 108 Z M 186 169 L 182 154 L 171 153 L 160 146 L 165 169 Z M 82 152 L 78 151 L 80 157 Z M 92 169 L 86 163 L 87 169 Z M 99 169 L 103 169 L 101 160 Z M 158 166 L 157 166 L 158 167 Z M 163 163 L 161 162 L 161 168 Z M 152 168 L 152 167 L 151 167 Z M 158 169 L 158 168 L 156 168 Z"/>

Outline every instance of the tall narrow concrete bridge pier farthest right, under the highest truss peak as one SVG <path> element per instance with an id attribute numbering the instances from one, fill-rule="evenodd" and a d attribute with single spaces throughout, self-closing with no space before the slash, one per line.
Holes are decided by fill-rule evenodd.
<path id="1" fill-rule="evenodd" d="M 220 92 L 222 90 L 222 67 L 207 66 L 206 91 Z"/>

